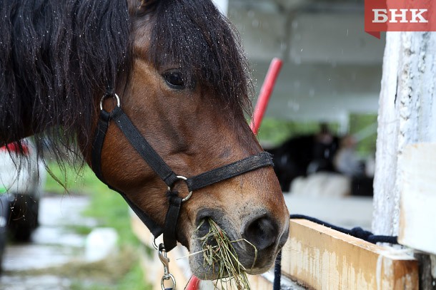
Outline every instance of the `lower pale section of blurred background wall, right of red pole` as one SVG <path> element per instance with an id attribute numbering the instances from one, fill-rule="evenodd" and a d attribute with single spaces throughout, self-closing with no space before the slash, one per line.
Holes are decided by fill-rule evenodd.
<path id="1" fill-rule="evenodd" d="M 254 66 L 261 86 L 268 63 Z M 266 116 L 292 120 L 342 120 L 348 113 L 377 113 L 380 66 L 284 63 Z"/>

